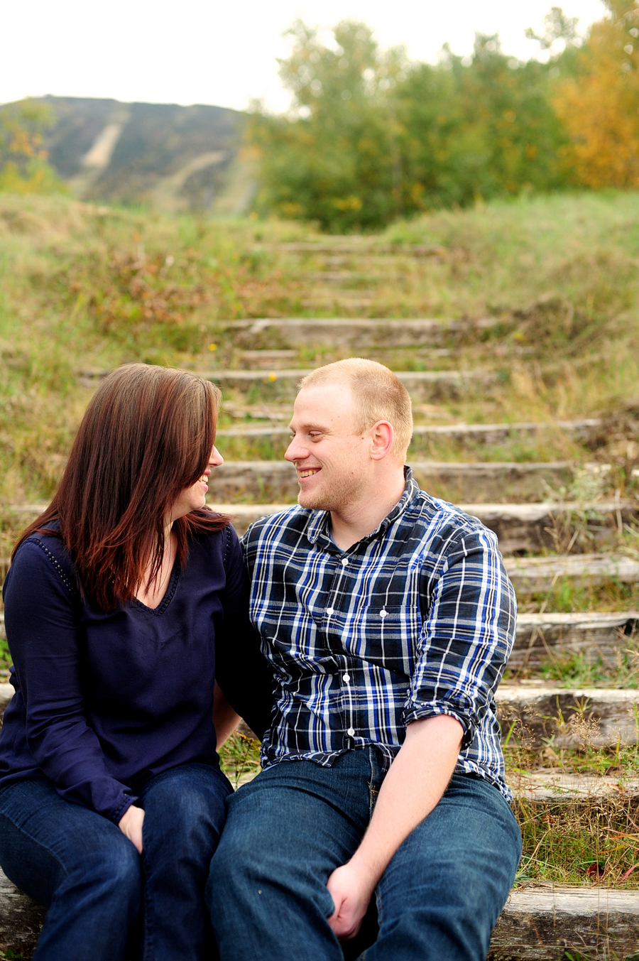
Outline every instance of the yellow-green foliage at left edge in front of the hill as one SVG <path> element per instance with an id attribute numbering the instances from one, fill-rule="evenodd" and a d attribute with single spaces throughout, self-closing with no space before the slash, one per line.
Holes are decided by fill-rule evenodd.
<path id="1" fill-rule="evenodd" d="M 51 122 L 47 106 L 33 100 L 0 107 L 0 192 L 64 191 L 42 147 L 42 134 Z"/>

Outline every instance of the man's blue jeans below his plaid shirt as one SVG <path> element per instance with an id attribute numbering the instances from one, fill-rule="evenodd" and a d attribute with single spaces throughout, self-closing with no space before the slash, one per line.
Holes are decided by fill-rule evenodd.
<path id="1" fill-rule="evenodd" d="M 359 845 L 382 779 L 370 748 L 331 768 L 282 761 L 228 799 L 207 885 L 223 961 L 342 961 L 326 882 Z M 359 956 L 483 961 L 520 855 L 519 827 L 497 788 L 455 775 L 382 876 L 377 940 Z"/>

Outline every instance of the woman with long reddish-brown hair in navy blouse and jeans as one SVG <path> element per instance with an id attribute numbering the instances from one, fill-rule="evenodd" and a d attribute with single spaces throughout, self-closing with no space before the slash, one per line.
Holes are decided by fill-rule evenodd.
<path id="1" fill-rule="evenodd" d="M 232 790 L 214 678 L 258 731 L 271 697 L 237 536 L 205 509 L 218 408 L 185 371 L 113 371 L 12 554 L 0 864 L 48 908 L 35 958 L 210 957 L 204 886 Z M 236 720 L 216 693 L 218 727 Z"/>

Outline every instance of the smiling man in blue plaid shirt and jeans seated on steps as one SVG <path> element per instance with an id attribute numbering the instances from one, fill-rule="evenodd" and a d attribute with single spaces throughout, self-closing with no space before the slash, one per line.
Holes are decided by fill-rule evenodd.
<path id="1" fill-rule="evenodd" d="M 244 538 L 276 707 L 211 865 L 222 961 L 340 961 L 374 894 L 367 961 L 480 961 L 521 852 L 497 539 L 404 468 L 410 399 L 381 364 L 313 371 L 290 427 L 299 505 Z"/>

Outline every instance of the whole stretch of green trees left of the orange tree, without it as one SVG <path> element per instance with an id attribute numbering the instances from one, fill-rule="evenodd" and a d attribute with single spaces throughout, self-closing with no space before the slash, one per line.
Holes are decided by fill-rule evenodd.
<path id="1" fill-rule="evenodd" d="M 567 33 L 570 24 L 554 24 Z M 370 230 L 399 214 L 566 183 L 566 140 L 549 68 L 476 38 L 470 62 L 381 53 L 371 30 L 343 21 L 333 45 L 297 21 L 281 76 L 285 116 L 258 109 L 248 136 L 261 154 L 258 207 L 332 231 Z"/>

